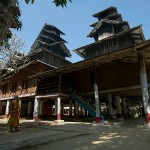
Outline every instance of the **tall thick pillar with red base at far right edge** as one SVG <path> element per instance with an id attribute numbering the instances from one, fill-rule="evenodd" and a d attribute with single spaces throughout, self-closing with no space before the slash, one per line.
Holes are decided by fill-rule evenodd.
<path id="1" fill-rule="evenodd" d="M 148 85 L 147 85 L 147 74 L 146 74 L 145 61 L 142 53 L 138 53 L 138 61 L 140 65 L 140 82 L 141 82 L 141 91 L 142 91 L 145 119 L 146 119 L 146 123 L 150 124 L 150 102 L 149 102 L 149 93 L 148 93 Z"/>

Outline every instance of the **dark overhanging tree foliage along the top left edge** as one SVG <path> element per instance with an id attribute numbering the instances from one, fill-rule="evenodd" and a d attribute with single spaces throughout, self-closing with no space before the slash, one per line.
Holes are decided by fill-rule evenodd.
<path id="1" fill-rule="evenodd" d="M 25 0 L 28 4 L 34 3 L 35 0 Z M 56 6 L 66 7 L 68 0 L 52 1 Z M 72 0 L 69 0 L 70 2 Z M 18 0 L 0 0 L 0 45 L 7 43 L 12 33 L 10 28 L 21 30 L 22 22 L 20 21 L 21 10 Z"/>

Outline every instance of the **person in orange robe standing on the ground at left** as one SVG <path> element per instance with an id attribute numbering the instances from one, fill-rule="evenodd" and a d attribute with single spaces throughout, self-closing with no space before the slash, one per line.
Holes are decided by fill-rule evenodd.
<path id="1" fill-rule="evenodd" d="M 10 132 L 13 132 L 13 128 L 15 128 L 15 131 L 20 131 L 18 129 L 19 116 L 20 116 L 19 98 L 18 96 L 15 96 L 15 99 L 11 102 L 10 108 L 9 108 L 8 124 L 10 126 Z"/>

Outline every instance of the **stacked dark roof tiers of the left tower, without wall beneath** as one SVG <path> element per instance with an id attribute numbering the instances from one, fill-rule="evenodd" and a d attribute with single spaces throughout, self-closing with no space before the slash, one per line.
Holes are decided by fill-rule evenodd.
<path id="1" fill-rule="evenodd" d="M 71 54 L 68 48 L 65 46 L 66 41 L 62 39 L 60 35 L 65 34 L 55 26 L 45 24 L 33 43 L 29 54 L 35 52 L 39 48 L 45 48 L 55 54 L 58 54 L 58 51 L 61 51 L 61 55 L 60 53 L 59 55 L 63 58 L 70 57 Z"/>

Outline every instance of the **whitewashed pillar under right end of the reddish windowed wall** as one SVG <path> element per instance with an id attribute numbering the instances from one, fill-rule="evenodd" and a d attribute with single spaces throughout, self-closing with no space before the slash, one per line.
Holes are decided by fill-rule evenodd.
<path id="1" fill-rule="evenodd" d="M 33 110 L 33 119 L 38 119 L 39 117 L 39 99 L 35 96 L 34 99 L 34 110 Z"/>

